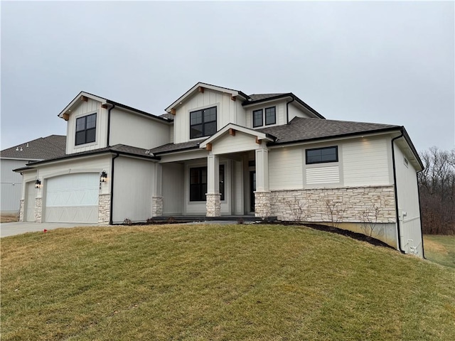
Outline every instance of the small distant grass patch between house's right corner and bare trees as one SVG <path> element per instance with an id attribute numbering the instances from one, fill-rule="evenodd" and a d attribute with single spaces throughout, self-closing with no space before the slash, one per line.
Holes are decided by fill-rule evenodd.
<path id="1" fill-rule="evenodd" d="M 425 257 L 455 269 L 455 236 L 424 235 Z"/>

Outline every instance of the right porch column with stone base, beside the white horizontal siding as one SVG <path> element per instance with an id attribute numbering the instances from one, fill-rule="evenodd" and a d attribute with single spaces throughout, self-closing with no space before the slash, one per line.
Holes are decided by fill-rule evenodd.
<path id="1" fill-rule="evenodd" d="M 256 191 L 255 217 L 265 219 L 272 215 L 269 191 L 269 151 L 267 146 L 261 145 L 255 151 L 256 156 Z"/>

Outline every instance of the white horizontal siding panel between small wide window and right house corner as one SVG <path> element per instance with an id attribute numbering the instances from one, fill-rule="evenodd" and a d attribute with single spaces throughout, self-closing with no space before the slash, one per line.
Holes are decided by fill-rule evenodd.
<path id="1" fill-rule="evenodd" d="M 386 139 L 358 139 L 343 144 L 344 185 L 390 185 Z"/>

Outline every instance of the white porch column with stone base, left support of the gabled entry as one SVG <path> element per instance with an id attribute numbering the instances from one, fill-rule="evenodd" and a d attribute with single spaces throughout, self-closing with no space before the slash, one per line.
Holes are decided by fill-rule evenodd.
<path id="1" fill-rule="evenodd" d="M 207 156 L 207 193 L 206 209 L 207 217 L 220 217 L 220 161 L 217 155 L 210 153 Z"/>

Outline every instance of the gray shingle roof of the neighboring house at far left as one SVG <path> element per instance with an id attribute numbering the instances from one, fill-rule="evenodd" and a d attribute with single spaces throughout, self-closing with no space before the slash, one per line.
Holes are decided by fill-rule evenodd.
<path id="1" fill-rule="evenodd" d="M 66 136 L 50 135 L 0 151 L 1 158 L 43 160 L 65 155 Z"/>

